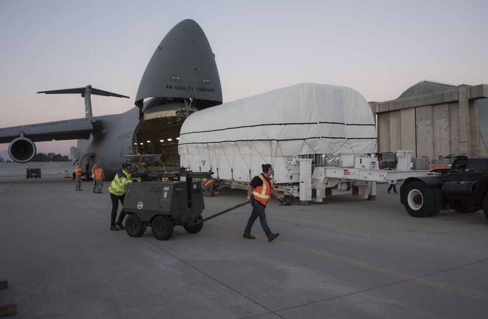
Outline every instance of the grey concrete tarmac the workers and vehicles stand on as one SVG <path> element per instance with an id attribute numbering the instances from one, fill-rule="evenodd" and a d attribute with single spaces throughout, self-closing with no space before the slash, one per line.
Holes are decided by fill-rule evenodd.
<path id="1" fill-rule="evenodd" d="M 413 218 L 378 185 L 375 201 L 272 199 L 271 243 L 259 220 L 242 237 L 250 205 L 158 241 L 110 231 L 109 183 L 0 176 L 0 306 L 18 309 L 5 318 L 487 318 L 483 211 Z M 245 197 L 205 197 L 203 217 Z"/>

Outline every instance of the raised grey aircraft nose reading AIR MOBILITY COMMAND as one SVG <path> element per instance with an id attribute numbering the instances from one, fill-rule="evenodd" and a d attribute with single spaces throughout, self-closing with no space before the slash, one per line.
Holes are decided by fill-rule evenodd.
<path id="1" fill-rule="evenodd" d="M 145 98 L 154 99 L 144 102 Z M 142 75 L 135 104 L 143 113 L 153 113 L 166 102 L 183 100 L 198 110 L 222 104 L 214 54 L 202 28 L 191 19 L 174 26 L 156 48 Z"/>

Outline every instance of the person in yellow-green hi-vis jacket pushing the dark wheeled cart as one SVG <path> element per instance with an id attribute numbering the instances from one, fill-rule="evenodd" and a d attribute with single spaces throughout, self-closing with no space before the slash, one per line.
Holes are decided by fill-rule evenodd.
<path id="1" fill-rule="evenodd" d="M 123 205 L 123 200 L 125 198 L 125 189 L 127 188 L 127 184 L 133 182 L 134 179 L 132 178 L 132 164 L 130 163 L 123 163 L 122 169 L 119 170 L 117 175 L 115 175 L 112 184 L 108 190 L 110 191 L 110 199 L 112 200 L 112 215 L 110 221 L 110 230 L 124 230 L 125 227 L 123 226 L 122 222 L 125 217 L 125 213 L 121 211 L 119 215 L 119 220 L 117 223 L 115 222 L 117 218 L 117 210 L 119 209 L 119 201 Z M 118 227 L 118 228 L 117 228 Z"/>

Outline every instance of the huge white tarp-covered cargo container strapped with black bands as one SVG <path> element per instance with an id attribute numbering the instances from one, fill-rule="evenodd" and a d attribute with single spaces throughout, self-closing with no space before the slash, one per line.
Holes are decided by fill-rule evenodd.
<path id="1" fill-rule="evenodd" d="M 302 83 L 224 103 L 183 123 L 181 164 L 248 182 L 271 163 L 276 183 L 298 181 L 300 155 L 376 152 L 373 113 L 357 91 Z M 352 162 L 351 164 L 352 165 Z"/>

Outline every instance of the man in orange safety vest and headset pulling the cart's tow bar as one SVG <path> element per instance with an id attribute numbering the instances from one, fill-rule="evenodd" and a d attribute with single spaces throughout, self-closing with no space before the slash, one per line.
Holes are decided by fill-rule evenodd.
<path id="1" fill-rule="evenodd" d="M 273 234 L 268 227 L 266 222 L 266 213 L 264 212 L 264 208 L 266 208 L 266 204 L 269 201 L 271 196 L 276 197 L 281 203 L 283 200 L 278 196 L 278 194 L 273 190 L 273 185 L 271 184 L 271 180 L 269 176 L 273 173 L 273 168 L 271 164 L 263 164 L 263 173 L 254 176 L 249 183 L 249 187 L 247 188 L 247 199 L 246 203 L 251 203 L 252 206 L 252 213 L 247 221 L 247 225 L 244 229 L 243 237 L 247 239 L 255 239 L 256 237 L 251 235 L 251 228 L 254 225 L 254 221 L 258 219 L 261 223 L 261 227 L 263 227 L 264 233 L 268 238 L 268 241 L 273 241 L 276 237 L 280 235 L 280 233 Z M 252 195 L 252 197 L 251 197 Z"/>

